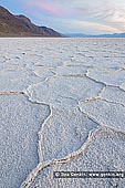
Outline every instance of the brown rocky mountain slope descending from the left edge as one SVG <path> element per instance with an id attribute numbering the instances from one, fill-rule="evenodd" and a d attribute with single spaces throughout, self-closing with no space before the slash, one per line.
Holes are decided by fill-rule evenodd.
<path id="1" fill-rule="evenodd" d="M 0 6 L 0 36 L 62 36 L 51 28 L 38 27 L 24 15 L 13 15 Z"/>

